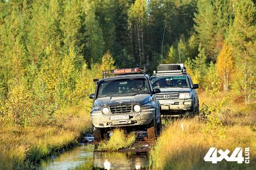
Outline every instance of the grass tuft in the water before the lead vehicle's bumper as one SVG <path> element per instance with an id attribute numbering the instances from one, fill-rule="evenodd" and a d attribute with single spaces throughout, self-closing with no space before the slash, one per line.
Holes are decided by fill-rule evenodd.
<path id="1" fill-rule="evenodd" d="M 129 147 L 135 142 L 135 139 L 136 135 L 134 132 L 126 135 L 122 129 L 114 129 L 109 141 L 100 142 L 99 149 L 103 151 L 117 151 L 118 149 Z"/>

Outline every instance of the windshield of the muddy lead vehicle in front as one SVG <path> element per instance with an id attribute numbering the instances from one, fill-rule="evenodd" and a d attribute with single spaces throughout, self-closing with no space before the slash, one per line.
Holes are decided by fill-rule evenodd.
<path id="1" fill-rule="evenodd" d="M 149 87 L 145 78 L 116 79 L 103 81 L 99 86 L 98 97 L 113 95 L 149 94 Z"/>

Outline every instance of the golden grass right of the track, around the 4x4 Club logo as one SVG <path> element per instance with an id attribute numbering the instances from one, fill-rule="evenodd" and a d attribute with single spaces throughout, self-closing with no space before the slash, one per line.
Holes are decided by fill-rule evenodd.
<path id="1" fill-rule="evenodd" d="M 210 113 L 201 119 L 167 121 L 156 145 L 150 151 L 152 169 L 254 169 L 256 167 L 255 106 L 245 106 L 237 97 L 219 93 L 209 98 L 199 95 L 201 108 L 209 106 Z M 182 131 L 181 124 L 184 126 Z M 205 162 L 210 147 L 234 151 L 236 147 L 250 147 L 250 164 L 221 161 Z M 229 154 L 230 156 L 230 154 Z"/>

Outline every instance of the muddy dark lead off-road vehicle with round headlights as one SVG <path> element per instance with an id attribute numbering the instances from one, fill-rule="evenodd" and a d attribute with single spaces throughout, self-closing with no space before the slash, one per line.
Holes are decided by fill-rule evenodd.
<path id="1" fill-rule="evenodd" d="M 103 71 L 103 78 L 94 83 L 96 89 L 90 95 L 94 141 L 106 138 L 116 127 L 145 130 L 149 139 L 155 138 L 162 126 L 155 95 L 160 89 L 152 88 L 145 68 Z"/>

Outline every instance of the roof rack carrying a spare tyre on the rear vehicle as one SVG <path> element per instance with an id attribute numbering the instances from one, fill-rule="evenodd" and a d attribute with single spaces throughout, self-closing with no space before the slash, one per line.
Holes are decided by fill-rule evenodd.
<path id="1" fill-rule="evenodd" d="M 154 75 L 175 74 L 186 74 L 186 68 L 184 64 L 160 64 L 157 66 L 157 71 L 154 71 Z"/>

